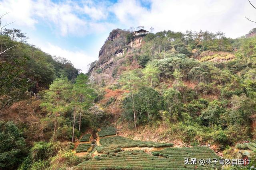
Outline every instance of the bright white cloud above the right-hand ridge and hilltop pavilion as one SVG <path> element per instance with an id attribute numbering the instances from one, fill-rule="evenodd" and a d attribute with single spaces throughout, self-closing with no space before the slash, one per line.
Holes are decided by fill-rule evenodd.
<path id="1" fill-rule="evenodd" d="M 255 23 L 244 18 L 256 12 L 248 1 L 241 0 L 152 0 L 150 10 L 137 0 L 120 0 L 113 11 L 126 27 L 144 25 L 155 31 L 218 30 L 228 37 L 247 33 Z M 254 17 L 255 18 L 255 17 Z M 256 18 L 255 18 L 256 20 Z"/>

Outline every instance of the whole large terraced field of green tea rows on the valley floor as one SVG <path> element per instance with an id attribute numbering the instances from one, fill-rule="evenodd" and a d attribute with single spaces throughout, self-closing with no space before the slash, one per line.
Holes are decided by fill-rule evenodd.
<path id="1" fill-rule="evenodd" d="M 185 164 L 185 158 L 218 159 L 208 147 L 177 148 L 172 143 L 145 142 L 128 139 L 115 134 L 114 128 L 102 129 L 93 159 L 78 164 L 77 170 L 211 170 L 221 169 L 220 165 Z M 111 132 L 112 131 L 112 132 Z M 136 147 L 137 150 L 132 150 Z M 151 148 L 153 151 L 145 152 Z M 124 150 L 128 148 L 128 150 Z M 162 148 L 162 149 L 161 149 Z M 141 150 L 138 150 L 141 149 Z M 147 149 L 145 149 L 147 150 Z M 93 154 L 95 155 L 95 154 Z"/>

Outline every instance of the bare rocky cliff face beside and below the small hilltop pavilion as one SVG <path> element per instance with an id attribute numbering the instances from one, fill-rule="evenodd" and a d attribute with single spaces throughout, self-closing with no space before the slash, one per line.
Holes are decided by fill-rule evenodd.
<path id="1" fill-rule="evenodd" d="M 98 83 L 113 82 L 117 68 L 127 61 L 133 61 L 129 52 L 142 46 L 145 35 L 134 36 L 130 31 L 112 30 L 99 51 L 99 61 L 90 65 L 90 78 Z"/>

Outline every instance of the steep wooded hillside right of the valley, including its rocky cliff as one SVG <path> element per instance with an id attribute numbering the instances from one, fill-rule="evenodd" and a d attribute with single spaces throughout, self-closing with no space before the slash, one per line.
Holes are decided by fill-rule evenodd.
<path id="1" fill-rule="evenodd" d="M 182 146 L 214 144 L 218 151 L 254 139 L 255 37 L 162 31 L 128 43 L 129 34 L 122 35 L 119 29 L 110 33 L 89 71 L 98 104 L 118 115 L 121 135 Z M 116 90 L 129 93 L 114 97 Z"/>

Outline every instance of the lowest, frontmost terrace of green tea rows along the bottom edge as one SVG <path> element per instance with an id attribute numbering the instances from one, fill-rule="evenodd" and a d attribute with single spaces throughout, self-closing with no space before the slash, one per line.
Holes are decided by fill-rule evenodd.
<path id="1" fill-rule="evenodd" d="M 196 149 L 197 150 L 197 149 Z M 110 154 L 94 156 L 94 159 L 82 162 L 76 166 L 78 170 L 206 170 L 220 169 L 221 166 L 199 166 L 185 165 L 184 156 L 187 150 L 178 149 L 174 158 L 162 158 L 160 156 L 150 156 L 142 150 L 123 151 Z M 192 150 L 191 150 L 192 151 Z M 202 148 L 205 155 L 198 156 L 208 158 L 209 149 Z M 194 152 L 191 152 L 193 154 Z M 212 153 L 212 152 L 210 152 Z M 186 155 L 187 156 L 187 155 Z M 196 156 L 195 156 L 196 157 Z M 216 155 L 212 157 L 217 157 Z"/>

